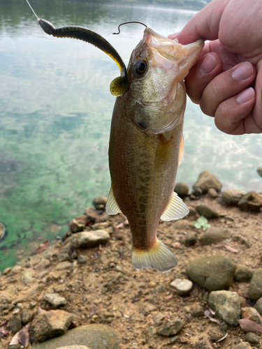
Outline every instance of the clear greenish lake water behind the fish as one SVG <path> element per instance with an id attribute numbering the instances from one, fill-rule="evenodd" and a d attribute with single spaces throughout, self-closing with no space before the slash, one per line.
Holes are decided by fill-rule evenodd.
<path id="1" fill-rule="evenodd" d="M 31 0 L 39 17 L 55 27 L 89 27 L 105 36 L 127 64 L 145 22 L 159 34 L 179 31 L 194 10 L 135 2 Z M 46 35 L 25 0 L 0 1 L 0 269 L 40 242 L 63 235 L 110 188 L 108 140 L 119 76 L 112 59 L 92 45 Z M 177 181 L 196 181 L 210 170 L 224 188 L 262 191 L 261 135 L 228 136 L 187 105 L 185 156 Z M 61 230 L 59 230 L 59 226 Z M 58 231 L 59 230 L 59 231 Z"/>

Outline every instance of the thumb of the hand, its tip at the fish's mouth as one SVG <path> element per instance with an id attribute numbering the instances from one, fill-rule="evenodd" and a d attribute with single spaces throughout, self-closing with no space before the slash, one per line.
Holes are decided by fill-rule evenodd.
<path id="1" fill-rule="evenodd" d="M 184 26 L 182 31 L 170 34 L 168 38 L 177 38 L 180 43 L 187 45 L 202 38 L 217 40 L 221 16 L 229 0 L 213 0 L 203 10 L 199 11 Z"/>

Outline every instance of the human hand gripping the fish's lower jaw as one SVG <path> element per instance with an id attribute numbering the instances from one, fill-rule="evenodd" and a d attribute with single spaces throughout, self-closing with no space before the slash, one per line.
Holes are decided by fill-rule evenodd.
<path id="1" fill-rule="evenodd" d="M 213 0 L 169 36 L 183 45 L 210 40 L 185 84 L 191 100 L 225 133 L 262 133 L 261 23 L 260 0 Z"/>

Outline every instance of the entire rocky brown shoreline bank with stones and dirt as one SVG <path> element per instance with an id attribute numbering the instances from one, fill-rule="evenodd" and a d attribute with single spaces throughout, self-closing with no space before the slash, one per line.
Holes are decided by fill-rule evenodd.
<path id="1" fill-rule="evenodd" d="M 133 269 L 126 217 L 95 198 L 61 241 L 3 271 L 0 349 L 261 348 L 262 195 L 221 188 L 207 171 L 191 193 L 177 184 L 190 210 L 159 223 L 178 260 L 165 274 Z"/>

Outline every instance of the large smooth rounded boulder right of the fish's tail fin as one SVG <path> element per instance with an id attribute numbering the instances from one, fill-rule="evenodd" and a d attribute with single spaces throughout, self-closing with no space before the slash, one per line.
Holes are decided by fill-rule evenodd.
<path id="1" fill-rule="evenodd" d="M 189 278 L 208 290 L 225 290 L 231 286 L 235 263 L 225 255 L 197 257 L 189 262 Z"/>

